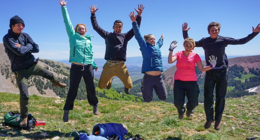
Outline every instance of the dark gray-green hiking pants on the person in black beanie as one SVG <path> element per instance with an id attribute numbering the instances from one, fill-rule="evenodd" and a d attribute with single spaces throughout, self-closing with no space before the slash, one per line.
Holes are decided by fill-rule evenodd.
<path id="1" fill-rule="evenodd" d="M 16 83 L 20 91 L 20 110 L 21 115 L 28 115 L 29 95 L 28 95 L 28 78 L 31 75 L 41 76 L 50 80 L 52 83 L 57 82 L 57 78 L 47 69 L 36 64 L 32 64 L 25 70 L 13 72 L 15 74 Z"/>

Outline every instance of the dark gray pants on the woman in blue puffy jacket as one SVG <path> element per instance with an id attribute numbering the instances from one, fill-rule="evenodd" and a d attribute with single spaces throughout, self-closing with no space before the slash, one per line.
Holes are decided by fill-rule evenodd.
<path id="1" fill-rule="evenodd" d="M 167 99 L 167 90 L 164 85 L 162 75 L 144 75 L 143 86 L 141 86 L 141 91 L 143 93 L 143 98 L 145 102 L 150 102 L 153 100 L 153 89 L 155 89 L 156 94 L 160 100 Z"/>

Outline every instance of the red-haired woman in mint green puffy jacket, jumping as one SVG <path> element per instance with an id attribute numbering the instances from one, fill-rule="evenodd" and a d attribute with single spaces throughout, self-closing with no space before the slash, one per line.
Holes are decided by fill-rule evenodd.
<path id="1" fill-rule="evenodd" d="M 97 65 L 94 62 L 91 35 L 85 35 L 85 24 L 77 24 L 73 28 L 67 7 L 67 2 L 59 0 L 61 4 L 61 12 L 66 26 L 66 31 L 70 42 L 70 88 L 64 105 L 64 114 L 62 120 L 69 121 L 69 110 L 73 110 L 74 100 L 76 99 L 78 87 L 83 77 L 86 84 L 87 99 L 90 105 L 93 106 L 94 115 L 98 114 L 98 99 L 94 87 L 94 69 L 97 71 Z"/>

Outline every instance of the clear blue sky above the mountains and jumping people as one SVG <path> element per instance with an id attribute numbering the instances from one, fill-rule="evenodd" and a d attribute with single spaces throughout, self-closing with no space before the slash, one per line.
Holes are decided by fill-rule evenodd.
<path id="1" fill-rule="evenodd" d="M 93 30 L 90 21 L 91 4 L 97 5 L 97 22 L 106 31 L 112 32 L 115 20 L 123 21 L 122 32 L 132 28 L 130 11 L 134 11 L 138 4 L 144 4 L 140 30 L 142 35 L 153 34 L 158 40 L 164 34 L 164 44 L 161 48 L 162 55 L 169 54 L 169 44 L 177 40 L 179 46 L 175 52 L 183 50 L 182 24 L 188 22 L 189 37 L 195 41 L 208 37 L 207 26 L 215 21 L 221 24 L 221 36 L 235 39 L 246 37 L 252 33 L 252 26 L 259 23 L 259 0 L 96 0 L 96 1 L 68 1 L 66 7 L 73 26 L 84 23 L 87 27 L 86 34 L 91 38 L 95 58 L 104 58 L 105 40 Z M 44 59 L 68 59 L 69 40 L 61 14 L 58 0 L 47 1 L 10 1 L 1 0 L 0 9 L 0 38 L 2 39 L 9 29 L 12 16 L 18 15 L 25 22 L 23 32 L 28 33 L 34 42 L 39 45 L 40 52 L 35 57 Z M 244 45 L 229 45 L 226 47 L 227 55 L 259 55 L 260 35 Z M 2 42 L 2 40 L 0 40 Z M 195 48 L 197 54 L 204 54 L 202 48 Z M 127 57 L 141 56 L 139 46 L 133 37 L 127 46 Z"/>

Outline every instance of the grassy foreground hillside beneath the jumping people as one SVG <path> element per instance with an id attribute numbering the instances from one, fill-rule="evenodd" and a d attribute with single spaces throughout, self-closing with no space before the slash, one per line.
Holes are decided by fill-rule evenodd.
<path id="1" fill-rule="evenodd" d="M 260 95 L 244 96 L 226 100 L 221 129 L 204 129 L 206 122 L 203 104 L 195 108 L 191 118 L 177 119 L 177 110 L 173 104 L 165 102 L 132 102 L 99 98 L 99 114 L 94 116 L 92 106 L 87 100 L 75 100 L 74 110 L 70 111 L 68 123 L 62 121 L 64 99 L 30 96 L 29 113 L 37 120 L 45 120 L 45 126 L 37 126 L 31 131 L 17 127 L 4 127 L 0 124 L 0 133 L 11 137 L 1 140 L 69 139 L 71 131 L 90 132 L 96 123 L 120 123 L 127 126 L 128 135 L 140 134 L 144 139 L 167 140 L 240 140 L 260 135 Z M 19 110 L 19 95 L 0 93 L 0 116 L 8 111 Z M 233 117 L 232 117 L 233 116 Z M 47 136 L 41 136 L 41 133 Z M 77 134 L 74 132 L 73 137 Z"/>

